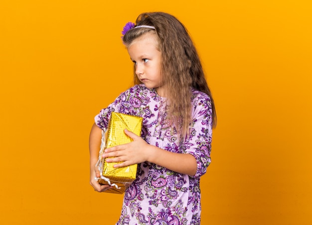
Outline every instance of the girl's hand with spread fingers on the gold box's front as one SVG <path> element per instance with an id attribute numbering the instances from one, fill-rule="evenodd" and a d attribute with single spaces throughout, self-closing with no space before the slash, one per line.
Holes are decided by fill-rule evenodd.
<path id="1" fill-rule="evenodd" d="M 103 158 L 107 158 L 106 162 L 122 162 L 114 165 L 114 168 L 129 166 L 133 164 L 138 164 L 141 162 L 148 161 L 148 149 L 150 144 L 148 144 L 142 137 L 136 135 L 135 133 L 125 129 L 125 133 L 133 139 L 132 142 L 127 144 L 122 144 L 105 149 Z"/>

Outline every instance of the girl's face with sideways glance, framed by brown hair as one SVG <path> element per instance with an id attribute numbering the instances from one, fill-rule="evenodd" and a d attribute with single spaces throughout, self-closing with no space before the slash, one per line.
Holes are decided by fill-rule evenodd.
<path id="1" fill-rule="evenodd" d="M 128 53 L 135 63 L 139 80 L 149 89 L 155 88 L 159 96 L 163 96 L 160 63 L 161 53 L 155 34 L 144 34 L 128 46 Z"/>

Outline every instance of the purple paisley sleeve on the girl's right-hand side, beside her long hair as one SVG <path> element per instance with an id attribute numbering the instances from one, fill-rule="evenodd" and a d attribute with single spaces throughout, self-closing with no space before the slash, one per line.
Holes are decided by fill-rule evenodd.
<path id="1" fill-rule="evenodd" d="M 197 170 L 192 177 L 198 178 L 206 173 L 211 162 L 212 107 L 209 96 L 204 93 L 197 95 L 192 104 L 193 120 L 183 148 L 185 153 L 195 157 Z"/>

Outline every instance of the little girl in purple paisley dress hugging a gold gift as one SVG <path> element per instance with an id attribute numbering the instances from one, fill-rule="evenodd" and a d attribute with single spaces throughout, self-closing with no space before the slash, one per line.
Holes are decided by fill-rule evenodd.
<path id="1" fill-rule="evenodd" d="M 196 49 L 185 27 L 163 12 L 142 13 L 127 23 L 123 43 L 134 63 L 135 86 L 96 115 L 90 133 L 90 184 L 98 192 L 95 168 L 111 112 L 143 117 L 141 136 L 108 148 L 107 162 L 138 164 L 126 190 L 117 225 L 199 225 L 200 177 L 210 164 L 216 114 Z"/>

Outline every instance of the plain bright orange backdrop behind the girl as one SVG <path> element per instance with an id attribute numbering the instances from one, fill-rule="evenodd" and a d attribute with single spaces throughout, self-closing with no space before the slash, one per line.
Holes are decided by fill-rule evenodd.
<path id="1" fill-rule="evenodd" d="M 216 102 L 202 224 L 312 224 L 309 0 L 1 0 L 1 224 L 118 220 L 122 195 L 89 185 L 88 135 L 132 83 L 124 24 L 156 10 L 188 28 Z"/>

